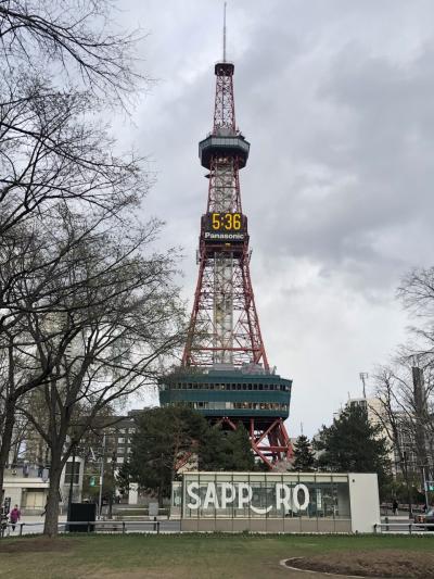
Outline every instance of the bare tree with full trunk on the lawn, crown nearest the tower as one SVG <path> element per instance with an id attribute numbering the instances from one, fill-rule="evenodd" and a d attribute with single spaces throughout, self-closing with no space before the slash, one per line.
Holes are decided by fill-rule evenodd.
<path id="1" fill-rule="evenodd" d="M 79 229 L 81 219 L 73 224 Z M 56 532 L 59 481 L 74 445 L 106 404 L 155 383 L 162 360 L 182 341 L 182 307 L 171 281 L 176 263 L 144 253 L 152 238 L 144 231 L 127 242 L 125 231 L 112 230 L 86 239 L 49 281 L 52 295 L 60 295 L 58 307 L 23 314 L 35 360 L 53 364 L 38 388 L 48 423 L 17 404 L 50 448 L 49 534 Z"/>

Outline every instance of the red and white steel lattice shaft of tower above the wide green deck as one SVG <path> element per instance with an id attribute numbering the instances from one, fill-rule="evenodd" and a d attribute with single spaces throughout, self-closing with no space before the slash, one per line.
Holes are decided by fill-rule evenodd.
<path id="1" fill-rule="evenodd" d="M 247 218 L 241 204 L 239 173 L 247 161 L 250 143 L 235 125 L 233 70 L 232 63 L 215 67 L 214 127 L 200 146 L 202 164 L 209 169 L 208 200 L 202 217 L 199 278 L 182 364 L 253 363 L 268 369 L 251 281 Z M 206 235 L 208 224 L 213 226 L 212 215 L 220 223 L 216 232 L 227 234 L 222 239 Z M 238 229 L 229 226 L 237 216 Z M 233 240 L 237 235 L 242 239 Z"/>

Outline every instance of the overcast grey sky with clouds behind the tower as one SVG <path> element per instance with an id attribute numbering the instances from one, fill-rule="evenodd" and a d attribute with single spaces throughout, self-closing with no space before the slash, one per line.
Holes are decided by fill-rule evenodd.
<path id="1" fill-rule="evenodd" d="M 222 1 L 122 0 L 158 83 L 115 121 L 156 173 L 144 212 L 180 244 L 192 303 Z M 251 273 L 268 358 L 294 380 L 290 436 L 314 435 L 405 340 L 400 276 L 434 244 L 434 2 L 229 0 Z"/>

